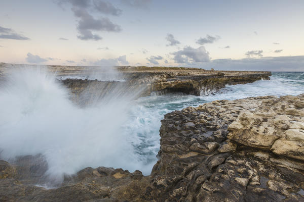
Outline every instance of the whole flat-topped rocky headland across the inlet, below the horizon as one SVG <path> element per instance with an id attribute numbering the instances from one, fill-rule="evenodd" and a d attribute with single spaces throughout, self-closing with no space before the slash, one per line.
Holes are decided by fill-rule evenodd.
<path id="1" fill-rule="evenodd" d="M 0 63 L 0 81 L 14 68 L 25 65 Z M 151 94 L 167 94 L 182 92 L 192 95 L 208 95 L 225 85 L 245 84 L 257 80 L 268 80 L 271 72 L 260 71 L 215 71 L 199 68 L 182 67 L 75 67 L 75 66 L 44 66 L 49 72 L 55 73 L 60 82 L 66 86 L 75 102 L 88 103 L 90 99 L 98 99 L 107 92 L 117 89 L 136 92 L 136 96 Z M 41 67 L 41 68 L 44 68 Z M 112 81 L 103 81 L 95 77 L 108 76 Z M 69 78 L 69 77 L 88 77 Z M 93 77 L 92 77 L 93 76 Z M 94 77 L 95 76 L 95 77 Z M 94 79 L 93 79 L 94 78 Z M 85 96 L 83 96 L 85 94 Z"/>

